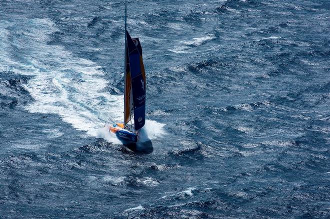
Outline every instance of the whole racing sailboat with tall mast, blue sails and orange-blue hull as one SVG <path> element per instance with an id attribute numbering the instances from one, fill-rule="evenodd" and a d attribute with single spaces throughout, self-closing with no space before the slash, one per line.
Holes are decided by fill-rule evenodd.
<path id="1" fill-rule="evenodd" d="M 127 31 L 127 3 L 125 2 L 124 52 L 124 116 L 123 122 L 109 126 L 123 143 L 137 142 L 139 130 L 145 123 L 145 72 L 142 47 L 138 38 Z"/>

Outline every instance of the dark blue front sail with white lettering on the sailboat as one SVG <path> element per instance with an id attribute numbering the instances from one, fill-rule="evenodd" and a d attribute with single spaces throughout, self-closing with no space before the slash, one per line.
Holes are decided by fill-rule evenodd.
<path id="1" fill-rule="evenodd" d="M 127 31 L 126 36 L 134 107 L 134 128 L 138 130 L 145 123 L 145 72 L 142 48 L 138 38 L 131 38 Z"/>

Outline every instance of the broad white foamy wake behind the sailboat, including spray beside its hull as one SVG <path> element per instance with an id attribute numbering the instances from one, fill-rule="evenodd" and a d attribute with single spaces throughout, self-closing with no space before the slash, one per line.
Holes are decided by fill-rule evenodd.
<path id="1" fill-rule="evenodd" d="M 12 70 L 33 77 L 24 88 L 33 97 L 34 102 L 25 107 L 32 113 L 57 114 L 72 127 L 86 131 L 89 136 L 102 137 L 113 143 L 120 143 L 114 134 L 98 119 L 101 115 L 110 122 L 122 120 L 123 96 L 112 95 L 105 90 L 108 81 L 105 72 L 97 63 L 74 56 L 63 46 L 50 45 L 49 34 L 57 31 L 50 19 L 23 20 L 22 32 L 13 42 L 8 31 L 14 23 L 7 22 L 0 26 L 1 46 L 16 46 L 22 54 L 19 59 L 9 54 L 0 56 L 0 69 Z M 28 26 L 29 28 L 24 28 Z M 2 31 L 3 30 L 3 31 Z M 16 30 L 17 31 L 17 30 Z M 2 49 L 1 49 L 2 51 Z M 141 139 L 154 138 L 163 133 L 163 124 L 147 121 L 141 131 Z M 155 128 L 156 126 L 156 128 Z M 100 128 L 101 127 L 101 128 Z"/>

